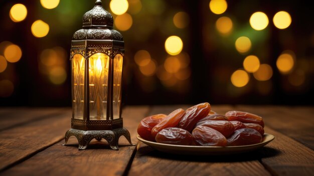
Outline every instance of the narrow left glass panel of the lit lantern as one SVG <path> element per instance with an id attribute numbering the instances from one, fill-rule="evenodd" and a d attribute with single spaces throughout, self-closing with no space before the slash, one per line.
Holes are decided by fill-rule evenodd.
<path id="1" fill-rule="evenodd" d="M 84 112 L 84 70 L 85 58 L 76 54 L 72 59 L 72 116 L 83 119 Z"/>

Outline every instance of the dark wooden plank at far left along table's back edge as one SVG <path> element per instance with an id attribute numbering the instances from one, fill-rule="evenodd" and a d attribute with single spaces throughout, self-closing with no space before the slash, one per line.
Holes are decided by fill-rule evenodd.
<path id="1" fill-rule="evenodd" d="M 53 117 L 64 109 L 65 108 L 2 108 L 0 111 L 0 131 L 30 121 Z"/>

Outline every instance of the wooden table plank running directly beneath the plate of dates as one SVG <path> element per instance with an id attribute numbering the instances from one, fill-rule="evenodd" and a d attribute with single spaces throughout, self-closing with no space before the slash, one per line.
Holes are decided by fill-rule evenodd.
<path id="1" fill-rule="evenodd" d="M 169 113 L 180 106 L 153 107 L 149 113 Z M 186 109 L 189 106 L 181 106 Z M 232 106 L 214 106 L 224 114 Z M 270 175 L 258 161 L 256 152 L 232 156 L 191 156 L 163 153 L 139 142 L 129 175 Z"/>

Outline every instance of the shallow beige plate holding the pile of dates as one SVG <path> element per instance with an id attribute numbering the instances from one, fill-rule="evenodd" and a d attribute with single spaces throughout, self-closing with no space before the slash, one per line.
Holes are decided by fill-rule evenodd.
<path id="1" fill-rule="evenodd" d="M 138 134 L 136 137 L 138 140 L 142 141 L 143 143 L 159 151 L 163 151 L 167 153 L 175 153 L 175 154 L 193 154 L 193 155 L 204 155 L 204 154 L 221 155 L 221 154 L 235 154 L 235 153 L 252 151 L 266 145 L 267 143 L 269 143 L 275 138 L 275 136 L 265 133 L 263 136 L 263 141 L 261 143 L 252 144 L 252 145 L 220 147 L 220 146 L 172 145 L 172 144 L 151 142 L 151 141 L 141 138 Z"/>

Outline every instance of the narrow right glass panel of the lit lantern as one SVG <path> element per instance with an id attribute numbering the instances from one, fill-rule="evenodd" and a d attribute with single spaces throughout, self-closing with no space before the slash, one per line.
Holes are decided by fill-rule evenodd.
<path id="1" fill-rule="evenodd" d="M 118 54 L 113 59 L 113 119 L 120 118 L 121 77 L 123 56 Z"/>

